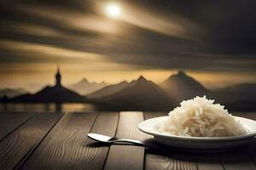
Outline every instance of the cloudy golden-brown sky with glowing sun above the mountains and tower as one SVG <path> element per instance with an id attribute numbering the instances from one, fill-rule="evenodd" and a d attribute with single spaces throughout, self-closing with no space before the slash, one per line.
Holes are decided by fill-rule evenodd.
<path id="1" fill-rule="evenodd" d="M 255 8 L 254 0 L 2 0 L 0 88 L 53 84 L 56 65 L 64 84 L 140 75 L 160 83 L 177 70 L 208 88 L 256 82 Z"/>

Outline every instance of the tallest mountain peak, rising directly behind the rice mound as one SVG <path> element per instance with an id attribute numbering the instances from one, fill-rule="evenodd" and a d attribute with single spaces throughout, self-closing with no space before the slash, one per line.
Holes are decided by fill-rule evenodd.
<path id="1" fill-rule="evenodd" d="M 204 88 L 200 82 L 189 77 L 183 71 L 178 71 L 177 74 L 162 82 L 160 88 L 168 94 L 175 104 L 179 104 L 183 99 L 191 99 L 196 95 L 202 96 L 208 93 L 207 88 Z"/>

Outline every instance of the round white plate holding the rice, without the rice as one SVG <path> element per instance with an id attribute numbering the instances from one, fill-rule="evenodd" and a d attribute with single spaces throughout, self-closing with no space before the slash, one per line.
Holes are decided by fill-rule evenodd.
<path id="1" fill-rule="evenodd" d="M 160 133 L 156 130 L 156 127 L 160 123 L 164 122 L 168 116 L 160 116 L 152 119 L 148 119 L 141 122 L 138 125 L 139 130 L 143 133 L 148 133 L 154 136 L 154 140 L 166 144 L 168 146 L 182 148 L 182 149 L 192 149 L 192 150 L 223 150 L 230 149 L 242 144 L 248 144 L 252 142 L 256 136 L 256 122 L 235 116 L 237 121 L 247 128 L 248 133 L 239 136 L 230 137 L 184 137 L 171 135 L 166 133 Z"/>

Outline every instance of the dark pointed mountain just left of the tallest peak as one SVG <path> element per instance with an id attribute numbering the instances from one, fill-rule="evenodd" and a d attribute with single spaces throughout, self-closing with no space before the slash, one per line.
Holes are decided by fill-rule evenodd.
<path id="1" fill-rule="evenodd" d="M 111 89 L 108 91 L 111 93 L 96 99 L 101 105 L 110 105 L 122 111 L 169 111 L 172 109 L 166 93 L 144 77 L 107 88 Z"/>

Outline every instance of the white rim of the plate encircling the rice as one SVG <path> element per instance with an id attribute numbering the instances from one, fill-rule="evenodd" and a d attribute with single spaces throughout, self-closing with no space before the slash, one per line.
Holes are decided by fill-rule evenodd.
<path id="1" fill-rule="evenodd" d="M 209 141 L 209 142 L 212 142 L 212 141 L 240 140 L 240 139 L 248 139 L 248 138 L 256 137 L 256 129 L 254 129 L 253 131 L 250 131 L 247 134 L 237 135 L 237 136 L 227 136 L 227 137 L 188 137 L 188 136 L 177 136 L 177 135 L 172 135 L 172 134 L 159 133 L 159 132 L 155 131 L 154 126 L 156 125 L 156 121 L 159 122 L 160 119 L 165 119 L 167 117 L 168 116 L 154 117 L 154 118 L 145 120 L 143 122 L 140 122 L 137 127 L 143 133 L 147 133 L 147 134 L 150 134 L 150 135 L 153 135 L 153 136 L 162 137 L 162 138 L 166 138 L 166 139 L 176 139 L 176 140 Z M 234 117 L 236 118 L 236 120 L 245 121 L 245 122 L 253 122 L 255 124 L 255 127 L 256 127 L 256 121 L 254 121 L 252 119 L 247 119 L 247 118 L 241 117 L 241 116 L 234 116 Z M 145 129 L 144 128 L 145 124 L 150 124 L 151 128 L 149 130 Z M 243 126 L 250 127 L 250 126 L 245 125 L 245 124 L 243 124 Z"/>

